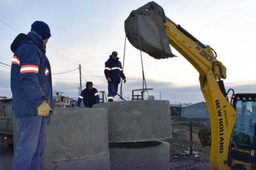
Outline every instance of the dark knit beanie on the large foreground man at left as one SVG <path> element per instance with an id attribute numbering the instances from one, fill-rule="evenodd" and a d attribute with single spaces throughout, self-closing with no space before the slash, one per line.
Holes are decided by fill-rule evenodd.
<path id="1" fill-rule="evenodd" d="M 36 34 L 42 37 L 42 40 L 48 39 L 51 36 L 50 28 L 47 23 L 42 21 L 36 21 L 31 25 L 31 31 L 35 31 Z"/>

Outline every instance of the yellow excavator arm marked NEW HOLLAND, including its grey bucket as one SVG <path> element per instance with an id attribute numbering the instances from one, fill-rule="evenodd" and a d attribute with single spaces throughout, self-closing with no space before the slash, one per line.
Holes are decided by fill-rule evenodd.
<path id="1" fill-rule="evenodd" d="M 154 1 L 131 11 L 125 20 L 125 34 L 131 45 L 155 59 L 176 57 L 171 45 L 196 68 L 211 122 L 210 167 L 231 169 L 228 154 L 236 111 L 226 98 L 222 80 L 226 79 L 226 67 L 213 49 L 167 18 Z"/>

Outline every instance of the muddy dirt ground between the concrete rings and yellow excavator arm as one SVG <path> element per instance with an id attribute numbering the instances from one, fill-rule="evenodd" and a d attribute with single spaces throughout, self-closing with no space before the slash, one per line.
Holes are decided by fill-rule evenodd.
<path id="1" fill-rule="evenodd" d="M 192 123 L 192 150 L 190 154 L 190 122 Z M 209 147 L 202 147 L 198 131 L 210 127 L 209 119 L 172 117 L 170 143 L 170 170 L 209 170 Z"/>

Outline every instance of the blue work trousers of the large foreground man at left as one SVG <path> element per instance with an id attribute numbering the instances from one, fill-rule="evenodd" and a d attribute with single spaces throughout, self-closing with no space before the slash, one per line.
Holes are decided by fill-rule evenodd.
<path id="1" fill-rule="evenodd" d="M 18 140 L 12 170 L 40 170 L 40 156 L 45 145 L 46 117 L 18 118 Z"/>

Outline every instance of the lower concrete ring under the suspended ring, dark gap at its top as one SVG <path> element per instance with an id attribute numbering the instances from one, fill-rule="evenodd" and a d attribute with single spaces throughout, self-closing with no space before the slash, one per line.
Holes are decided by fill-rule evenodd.
<path id="1" fill-rule="evenodd" d="M 163 141 L 110 143 L 110 170 L 169 170 L 169 150 Z"/>

